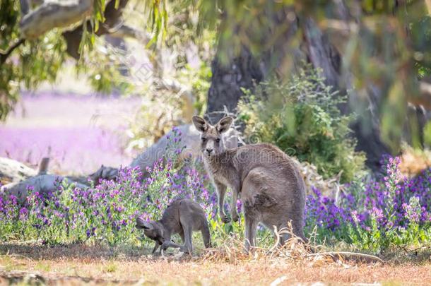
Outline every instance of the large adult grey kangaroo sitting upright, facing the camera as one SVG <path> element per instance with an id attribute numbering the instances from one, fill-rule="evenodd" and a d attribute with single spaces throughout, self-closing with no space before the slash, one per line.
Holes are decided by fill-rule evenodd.
<path id="1" fill-rule="evenodd" d="M 220 119 L 215 126 L 201 117 L 193 117 L 201 132 L 203 162 L 218 193 L 218 211 L 223 222 L 230 219 L 223 210 L 226 187 L 232 190 L 231 216 L 238 220 L 235 206 L 238 195 L 245 219 L 244 248 L 255 245 L 256 227 L 261 222 L 273 230 L 288 227 L 304 237 L 305 183 L 295 162 L 274 145 L 261 143 L 225 149 L 222 135 L 232 124 L 232 117 Z M 289 239 L 283 234 L 281 244 Z"/>

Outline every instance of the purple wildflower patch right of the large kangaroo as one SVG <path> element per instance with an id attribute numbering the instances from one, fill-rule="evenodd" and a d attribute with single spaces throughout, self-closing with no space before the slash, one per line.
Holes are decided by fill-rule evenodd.
<path id="1" fill-rule="evenodd" d="M 380 252 L 389 246 L 427 242 L 431 226 L 431 169 L 407 179 L 399 157 L 386 158 L 384 176 L 350 184 L 336 203 L 314 189 L 307 198 L 308 232 L 319 240 L 344 240 Z"/>

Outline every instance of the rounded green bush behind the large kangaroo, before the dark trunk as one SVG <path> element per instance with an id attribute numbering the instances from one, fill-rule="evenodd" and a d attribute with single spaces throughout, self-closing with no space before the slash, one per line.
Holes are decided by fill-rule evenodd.
<path id="1" fill-rule="evenodd" d="M 288 155 L 316 165 L 323 177 L 342 171 L 341 181 L 350 181 L 364 169 L 365 155 L 355 152 L 348 124 L 338 105 L 346 97 L 324 84 L 318 71 L 304 68 L 290 81 L 270 80 L 245 91 L 238 105 L 249 143 L 278 145 Z"/>

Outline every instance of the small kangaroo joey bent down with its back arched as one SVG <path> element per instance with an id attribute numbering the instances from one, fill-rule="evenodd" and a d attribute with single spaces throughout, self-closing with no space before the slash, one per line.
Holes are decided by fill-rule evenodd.
<path id="1" fill-rule="evenodd" d="M 211 245 L 205 212 L 198 203 L 187 198 L 181 198 L 168 205 L 161 220 L 145 222 L 141 218 L 136 218 L 136 228 L 143 229 L 143 233 L 155 241 L 153 254 L 159 246 L 160 252 L 162 249 L 175 247 L 191 254 L 193 251 L 191 234 L 198 230 L 202 232 L 205 247 Z M 171 242 L 172 234 L 179 234 L 184 245 Z"/>

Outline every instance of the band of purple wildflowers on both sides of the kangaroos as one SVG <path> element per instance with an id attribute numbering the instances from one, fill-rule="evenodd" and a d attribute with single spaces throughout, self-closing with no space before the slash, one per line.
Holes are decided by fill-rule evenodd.
<path id="1" fill-rule="evenodd" d="M 179 160 L 181 133 L 173 131 L 167 155 L 146 169 L 149 177 L 143 181 L 138 167 L 126 167 L 119 170 L 116 181 L 102 180 L 90 189 L 58 180 L 57 189 L 44 195 L 29 186 L 24 202 L 11 194 L 0 196 L 0 241 L 136 245 L 141 237 L 135 229 L 136 216 L 158 220 L 167 205 L 184 197 L 206 211 L 215 244 L 232 232 L 241 238 L 244 224 L 222 224 L 215 216 L 217 196 L 201 162 Z M 313 189 L 307 197 L 306 232 L 315 233 L 317 242 L 347 242 L 373 253 L 394 245 L 429 243 L 431 169 L 407 179 L 399 172 L 398 157 L 385 160 L 382 177 L 351 183 L 337 202 Z M 267 243 L 268 231 L 259 230 L 259 237 Z"/>

